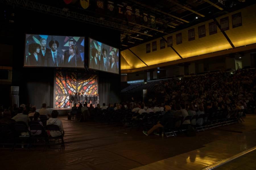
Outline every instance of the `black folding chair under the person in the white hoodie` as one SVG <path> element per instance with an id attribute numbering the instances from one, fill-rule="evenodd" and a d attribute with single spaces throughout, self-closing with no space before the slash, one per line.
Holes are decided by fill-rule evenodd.
<path id="1" fill-rule="evenodd" d="M 61 135 L 56 136 L 56 137 L 49 136 L 47 138 L 46 145 L 48 145 L 48 146 L 50 146 L 50 145 L 59 145 L 60 143 L 51 143 L 50 144 L 49 140 L 50 139 L 55 139 L 55 140 L 58 139 L 58 141 L 59 141 L 59 139 L 61 139 L 61 147 L 63 146 L 63 148 L 65 149 L 65 144 L 64 144 L 64 139 L 63 139 L 64 134 L 61 132 L 59 126 L 55 125 L 55 124 L 49 124 L 49 125 L 46 126 L 46 130 L 49 130 L 49 131 L 59 131 L 61 133 Z M 60 150 L 61 150 L 61 147 L 60 147 Z"/>

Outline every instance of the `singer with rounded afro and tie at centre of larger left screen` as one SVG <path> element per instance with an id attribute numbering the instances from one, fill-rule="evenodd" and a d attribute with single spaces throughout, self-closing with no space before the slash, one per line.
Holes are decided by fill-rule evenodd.
<path id="1" fill-rule="evenodd" d="M 46 54 L 47 66 L 62 67 L 63 65 L 62 55 L 57 50 L 57 48 L 59 47 L 59 42 L 51 40 L 49 42 L 49 46 L 51 47 L 51 51 Z"/>

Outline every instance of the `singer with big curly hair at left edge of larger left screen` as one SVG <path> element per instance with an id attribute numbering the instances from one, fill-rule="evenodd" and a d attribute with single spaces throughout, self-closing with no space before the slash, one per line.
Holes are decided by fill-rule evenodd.
<path id="1" fill-rule="evenodd" d="M 28 66 L 42 66 L 42 57 L 40 53 L 41 46 L 37 43 L 32 43 L 28 47 L 30 55 L 27 58 L 26 65 Z"/>

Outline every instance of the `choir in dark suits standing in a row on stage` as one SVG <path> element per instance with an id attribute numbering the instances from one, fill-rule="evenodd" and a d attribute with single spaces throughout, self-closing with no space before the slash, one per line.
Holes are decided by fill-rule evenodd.
<path id="1" fill-rule="evenodd" d="M 84 94 L 85 93 L 85 94 Z M 72 108 L 72 103 L 79 104 L 82 103 L 82 105 L 86 102 L 88 105 L 92 104 L 93 107 L 97 106 L 99 104 L 99 94 L 91 94 L 89 95 L 87 92 L 81 93 L 70 93 L 69 94 L 69 104 L 70 108 Z"/>

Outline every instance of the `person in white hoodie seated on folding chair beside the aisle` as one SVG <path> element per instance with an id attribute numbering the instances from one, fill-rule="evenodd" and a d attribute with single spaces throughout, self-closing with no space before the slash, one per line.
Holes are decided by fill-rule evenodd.
<path id="1" fill-rule="evenodd" d="M 50 131 L 50 134 L 52 137 L 57 137 L 57 136 L 61 136 L 61 135 L 64 136 L 64 128 L 63 128 L 61 120 L 57 119 L 58 115 L 59 115 L 58 111 L 56 111 L 56 110 L 52 111 L 51 118 L 49 118 L 46 122 L 46 126 L 49 124 L 55 124 L 55 125 L 59 126 L 60 131 Z"/>

